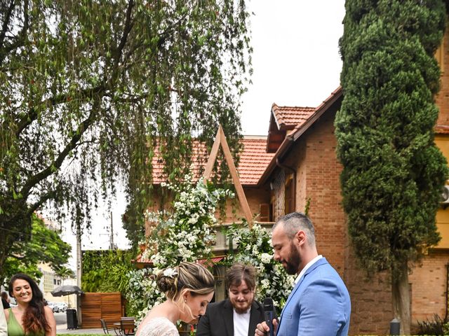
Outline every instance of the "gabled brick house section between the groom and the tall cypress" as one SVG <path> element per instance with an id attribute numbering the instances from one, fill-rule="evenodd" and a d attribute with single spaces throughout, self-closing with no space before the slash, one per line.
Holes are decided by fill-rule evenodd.
<path id="1" fill-rule="evenodd" d="M 337 140 L 333 124 L 341 103 L 342 88 L 338 87 L 311 111 L 273 105 L 267 149 L 276 152 L 259 186 L 271 186 L 274 221 L 291 211 L 304 212 L 308 207 L 316 229 L 318 251 L 340 273 L 351 295 L 351 335 L 385 335 L 393 318 L 387 276 L 366 279 L 356 267 L 340 205 L 342 166 L 335 154 Z M 286 120 L 294 120 L 295 115 L 303 118 L 292 127 Z"/>

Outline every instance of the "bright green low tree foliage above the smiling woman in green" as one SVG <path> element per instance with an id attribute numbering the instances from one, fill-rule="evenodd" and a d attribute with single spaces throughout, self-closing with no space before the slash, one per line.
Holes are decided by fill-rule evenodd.
<path id="1" fill-rule="evenodd" d="M 43 221 L 33 214 L 30 237 L 10 246 L 11 255 L 4 262 L 0 283 L 8 282 L 18 272 L 40 279 L 43 275 L 38 268 L 40 262 L 48 263 L 57 274 L 66 269 L 64 265 L 69 260 L 72 247 L 60 239 L 59 233 L 46 228 Z"/>

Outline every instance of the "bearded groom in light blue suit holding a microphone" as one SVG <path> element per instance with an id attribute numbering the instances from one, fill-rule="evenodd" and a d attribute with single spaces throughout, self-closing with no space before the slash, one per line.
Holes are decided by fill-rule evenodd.
<path id="1" fill-rule="evenodd" d="M 348 335 L 351 300 L 338 273 L 315 245 L 310 219 L 300 212 L 283 216 L 273 227 L 274 259 L 288 274 L 297 274 L 295 287 L 274 320 L 276 336 Z M 257 324 L 255 336 L 269 331 L 267 323 Z"/>

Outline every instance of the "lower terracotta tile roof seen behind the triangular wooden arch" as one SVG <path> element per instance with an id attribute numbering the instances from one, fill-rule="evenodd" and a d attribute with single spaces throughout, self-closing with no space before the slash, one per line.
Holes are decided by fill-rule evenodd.
<path id="1" fill-rule="evenodd" d="M 242 142 L 243 151 L 240 153 L 240 163 L 237 167 L 240 182 L 243 186 L 255 186 L 272 160 L 274 153 L 265 152 L 267 137 L 246 136 L 242 139 Z M 200 168 L 206 166 L 209 153 L 206 146 L 199 141 L 195 141 L 193 151 L 194 176 L 199 179 Z M 163 174 L 163 162 L 160 153 L 157 150 L 155 152 L 156 155 L 152 159 L 153 183 L 160 184 L 166 181 L 166 176 Z"/>

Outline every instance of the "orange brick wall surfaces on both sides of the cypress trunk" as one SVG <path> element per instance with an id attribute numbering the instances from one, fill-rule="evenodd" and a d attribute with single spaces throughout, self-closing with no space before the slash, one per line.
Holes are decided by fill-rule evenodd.
<path id="1" fill-rule="evenodd" d="M 393 318 L 389 273 L 368 278 L 357 266 L 349 244 L 341 207 L 342 167 L 335 155 L 334 118 L 335 113 L 329 111 L 290 153 L 297 165 L 297 210 L 303 211 L 303 205 L 310 198 L 309 216 L 316 228 L 319 253 L 337 269 L 351 295 L 350 335 L 385 335 Z M 410 274 L 413 327 L 416 328 L 417 321 L 432 318 L 434 314 L 445 316 L 445 264 L 448 261 L 447 251 L 431 250 Z"/>

